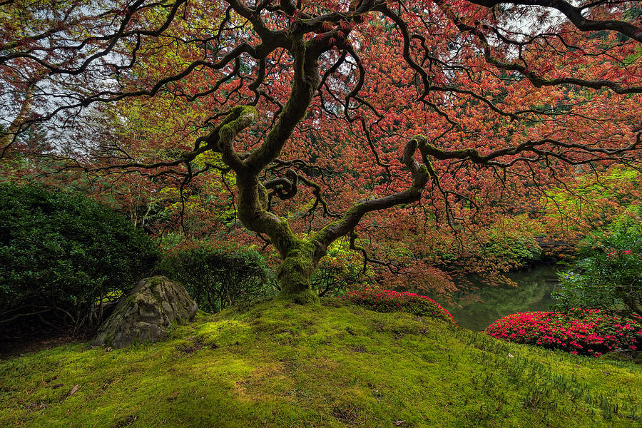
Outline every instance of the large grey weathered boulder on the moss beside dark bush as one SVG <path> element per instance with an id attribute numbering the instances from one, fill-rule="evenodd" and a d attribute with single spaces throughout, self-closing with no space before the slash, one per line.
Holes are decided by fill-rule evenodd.
<path id="1" fill-rule="evenodd" d="M 183 285 L 166 277 L 144 278 L 121 297 L 91 345 L 121 348 L 135 342 L 158 342 L 172 325 L 194 319 L 198 306 Z"/>

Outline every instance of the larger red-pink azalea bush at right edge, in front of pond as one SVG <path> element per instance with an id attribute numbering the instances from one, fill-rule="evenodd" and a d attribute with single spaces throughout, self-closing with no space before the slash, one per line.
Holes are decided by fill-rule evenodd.
<path id="1" fill-rule="evenodd" d="M 568 314 L 511 314 L 496 320 L 484 332 L 509 342 L 594 357 L 616 348 L 637 350 L 642 347 L 642 322 L 606 315 L 596 309 L 573 310 Z"/>

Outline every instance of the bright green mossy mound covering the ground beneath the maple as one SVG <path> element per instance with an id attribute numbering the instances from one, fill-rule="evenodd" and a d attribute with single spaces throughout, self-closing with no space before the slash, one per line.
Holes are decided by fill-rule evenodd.
<path id="1" fill-rule="evenodd" d="M 1 427 L 639 427 L 641 397 L 630 363 L 332 299 L 0 362 Z"/>

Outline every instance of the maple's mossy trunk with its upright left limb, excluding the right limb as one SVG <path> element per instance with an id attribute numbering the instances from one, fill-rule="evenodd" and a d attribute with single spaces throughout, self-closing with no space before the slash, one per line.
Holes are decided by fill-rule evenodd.
<path id="1" fill-rule="evenodd" d="M 319 84 L 318 52 L 310 52 L 300 37 L 292 39 L 295 74 L 292 91 L 277 123 L 267 133 L 263 144 L 249 156 L 241 159 L 233 150 L 233 138 L 248 126 L 242 118 L 253 120 L 253 108 L 235 108 L 218 131 L 217 148 L 223 160 L 237 175 L 238 218 L 249 230 L 262 233 L 278 251 L 282 263 L 277 272 L 280 282 L 280 297 L 298 303 L 317 302 L 319 297 L 312 290 L 312 273 L 317 267 L 325 248 L 312 240 L 298 239 L 287 221 L 267 211 L 267 190 L 259 181 L 260 172 L 279 156 L 282 147 L 292 134 L 297 123 L 305 116 Z"/>

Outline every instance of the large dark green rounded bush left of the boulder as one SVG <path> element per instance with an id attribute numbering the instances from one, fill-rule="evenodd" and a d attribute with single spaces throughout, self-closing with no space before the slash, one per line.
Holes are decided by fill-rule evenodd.
<path id="1" fill-rule="evenodd" d="M 0 326 L 79 325 L 160 259 L 121 215 L 81 195 L 0 184 Z"/>

